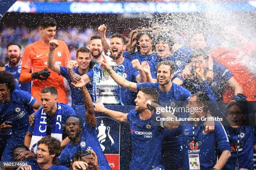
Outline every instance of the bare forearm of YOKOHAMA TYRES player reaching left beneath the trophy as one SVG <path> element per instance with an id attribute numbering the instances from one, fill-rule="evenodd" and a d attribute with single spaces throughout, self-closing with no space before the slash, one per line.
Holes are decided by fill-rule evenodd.
<path id="1" fill-rule="evenodd" d="M 110 117 L 112 117 L 113 119 L 117 120 L 118 122 L 125 122 L 125 123 L 129 122 L 127 120 L 128 114 L 126 114 L 126 113 L 118 112 L 115 110 L 109 110 L 109 109 L 105 108 L 105 106 L 102 103 L 95 103 L 94 107 L 95 107 L 95 112 L 105 113 L 105 114 L 109 115 Z"/>

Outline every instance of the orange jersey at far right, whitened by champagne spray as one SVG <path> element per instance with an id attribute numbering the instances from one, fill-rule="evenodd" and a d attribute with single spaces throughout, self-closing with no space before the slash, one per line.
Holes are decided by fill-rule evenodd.
<path id="1" fill-rule="evenodd" d="M 256 98 L 254 97 L 256 96 L 256 79 L 248 69 L 248 67 L 251 67 L 251 54 L 255 52 L 255 50 L 256 43 L 248 42 L 240 47 L 222 47 L 210 52 L 210 55 L 220 64 L 227 67 L 234 78 L 239 82 L 243 88 L 243 94 L 248 97 L 248 101 L 256 101 Z M 232 100 L 233 95 L 233 89 L 231 87 L 227 87 L 223 92 L 223 101 L 229 102 Z"/>

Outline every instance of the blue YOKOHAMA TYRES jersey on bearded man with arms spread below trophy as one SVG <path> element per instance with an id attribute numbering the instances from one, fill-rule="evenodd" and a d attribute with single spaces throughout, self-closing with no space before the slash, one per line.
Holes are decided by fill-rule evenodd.
<path id="1" fill-rule="evenodd" d="M 161 141 L 164 128 L 156 121 L 156 115 L 148 120 L 141 120 L 139 113 L 131 110 L 127 119 L 130 122 L 132 138 L 132 160 L 130 170 L 151 170 L 161 165 Z"/>

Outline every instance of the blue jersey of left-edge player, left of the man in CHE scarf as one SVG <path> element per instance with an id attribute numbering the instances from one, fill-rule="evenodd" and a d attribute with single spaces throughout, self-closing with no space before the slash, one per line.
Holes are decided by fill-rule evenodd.
<path id="1" fill-rule="evenodd" d="M 7 104 L 0 103 L 0 123 L 12 125 L 2 161 L 13 161 L 13 147 L 23 144 L 29 126 L 28 116 L 34 112 L 32 106 L 36 102 L 31 94 L 23 90 L 15 89 L 10 95 L 11 100 Z"/>

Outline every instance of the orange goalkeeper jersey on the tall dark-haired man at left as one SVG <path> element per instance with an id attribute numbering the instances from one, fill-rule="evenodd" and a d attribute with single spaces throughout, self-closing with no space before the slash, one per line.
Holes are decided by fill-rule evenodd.
<path id="1" fill-rule="evenodd" d="M 58 40 L 59 47 L 54 50 L 56 64 L 67 66 L 70 60 L 69 49 L 65 42 Z M 28 45 L 24 50 L 24 57 L 21 67 L 21 76 L 23 72 L 38 72 L 48 67 L 49 45 L 43 44 L 40 40 Z M 67 104 L 67 92 L 64 87 L 63 77 L 51 69 L 51 74 L 47 80 L 34 79 L 31 87 L 31 95 L 40 101 L 40 93 L 44 87 L 54 86 L 58 90 L 58 101 Z M 24 77 L 21 77 L 21 79 Z"/>

